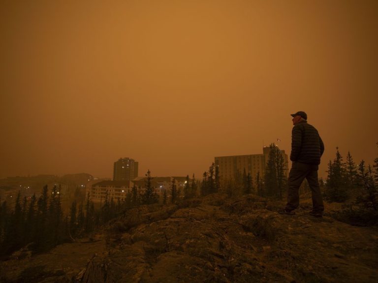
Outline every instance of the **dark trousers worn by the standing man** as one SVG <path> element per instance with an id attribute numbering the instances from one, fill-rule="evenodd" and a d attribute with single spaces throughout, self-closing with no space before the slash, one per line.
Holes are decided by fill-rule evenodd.
<path id="1" fill-rule="evenodd" d="M 318 165 L 293 162 L 289 173 L 286 210 L 291 211 L 299 206 L 299 187 L 303 179 L 306 178 L 313 198 L 313 211 L 324 211 L 323 198 L 321 197 L 317 179 L 318 168 Z"/>

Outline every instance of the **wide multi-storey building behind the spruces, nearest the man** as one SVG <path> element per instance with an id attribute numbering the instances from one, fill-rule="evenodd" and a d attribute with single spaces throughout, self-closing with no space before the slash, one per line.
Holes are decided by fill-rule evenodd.
<path id="1" fill-rule="evenodd" d="M 257 172 L 260 177 L 265 173 L 265 166 L 268 162 L 270 147 L 264 146 L 262 154 L 233 155 L 215 157 L 215 165 L 219 168 L 221 180 L 235 179 L 238 174 L 250 173 L 253 182 L 256 180 Z M 284 158 L 284 174 L 288 176 L 288 158 L 284 150 L 281 150 Z"/>

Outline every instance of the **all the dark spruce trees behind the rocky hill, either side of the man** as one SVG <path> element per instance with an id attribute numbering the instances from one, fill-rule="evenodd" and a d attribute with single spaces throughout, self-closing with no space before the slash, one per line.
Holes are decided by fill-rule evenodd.
<path id="1" fill-rule="evenodd" d="M 125 210 L 139 205 L 177 204 L 185 199 L 214 193 L 225 193 L 229 197 L 255 194 L 282 199 L 287 185 L 285 170 L 281 150 L 272 143 L 265 173 L 260 175 L 258 172 L 254 180 L 246 170 L 243 173 L 237 171 L 233 178 L 221 180 L 219 167 L 212 163 L 209 170 L 203 173 L 202 180 L 196 180 L 194 174 L 191 179 L 187 175 L 181 190 L 176 180 L 172 179 L 170 189 L 163 190 L 158 196 L 151 171 L 148 170 L 143 191 L 134 185 L 125 198 L 117 200 L 106 191 L 97 209 L 88 193 L 84 201 L 72 202 L 67 215 L 63 214 L 60 187 L 54 186 L 49 191 L 44 186 L 39 198 L 34 194 L 30 199 L 21 199 L 19 193 L 13 209 L 0 199 L 0 256 L 9 255 L 26 245 L 32 251 L 40 252 L 63 242 L 74 241 L 77 237 L 90 234 Z M 349 205 L 350 213 L 356 214 L 357 211 L 368 219 L 372 215 L 378 219 L 378 158 L 374 160 L 373 166 L 366 165 L 363 160 L 356 165 L 350 152 L 344 162 L 337 148 L 335 159 L 328 163 L 327 172 L 326 182 L 319 180 L 324 187 L 326 200 L 344 202 L 357 190 Z"/>

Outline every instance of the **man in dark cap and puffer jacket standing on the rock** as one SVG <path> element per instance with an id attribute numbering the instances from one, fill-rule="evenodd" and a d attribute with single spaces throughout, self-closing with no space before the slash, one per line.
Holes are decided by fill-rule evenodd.
<path id="1" fill-rule="evenodd" d="M 284 209 L 279 210 L 279 213 L 295 214 L 293 210 L 299 206 L 299 187 L 303 179 L 306 178 L 313 199 L 313 210 L 310 215 L 321 217 L 324 205 L 317 179 L 317 170 L 320 157 L 324 152 L 324 144 L 315 127 L 307 123 L 306 113 L 299 111 L 291 116 L 294 125 L 291 132 L 290 160 L 292 166 L 288 180 L 287 204 Z"/>

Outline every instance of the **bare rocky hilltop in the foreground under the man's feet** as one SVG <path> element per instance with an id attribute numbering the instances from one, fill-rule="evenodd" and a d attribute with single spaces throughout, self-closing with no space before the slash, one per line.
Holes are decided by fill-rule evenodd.
<path id="1" fill-rule="evenodd" d="M 377 227 L 307 216 L 306 206 L 280 215 L 282 205 L 216 194 L 130 209 L 96 241 L 1 262 L 1 282 L 378 282 Z"/>

